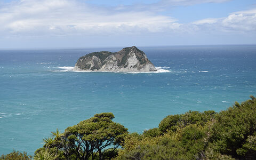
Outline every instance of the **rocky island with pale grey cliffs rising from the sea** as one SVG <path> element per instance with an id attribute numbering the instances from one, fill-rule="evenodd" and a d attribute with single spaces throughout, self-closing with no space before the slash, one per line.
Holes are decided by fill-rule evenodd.
<path id="1" fill-rule="evenodd" d="M 74 70 L 76 71 L 156 71 L 146 54 L 137 47 L 126 47 L 119 52 L 93 52 L 79 58 Z"/>

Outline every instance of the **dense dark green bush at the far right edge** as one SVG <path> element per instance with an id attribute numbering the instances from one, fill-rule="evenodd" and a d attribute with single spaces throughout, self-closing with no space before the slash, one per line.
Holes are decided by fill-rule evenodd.
<path id="1" fill-rule="evenodd" d="M 253 145 L 253 137 L 250 135 L 253 135 L 256 130 L 255 115 L 256 99 L 254 97 L 241 104 L 235 102 L 233 107 L 221 111 L 216 116 L 212 131 L 213 149 L 233 157 L 243 156 L 249 150 L 254 152 L 255 148 L 247 148 L 246 144 Z"/>

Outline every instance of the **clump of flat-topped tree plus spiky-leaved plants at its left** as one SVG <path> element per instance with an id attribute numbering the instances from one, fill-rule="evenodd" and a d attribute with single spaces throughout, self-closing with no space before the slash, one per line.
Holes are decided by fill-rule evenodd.
<path id="1" fill-rule="evenodd" d="M 54 138 L 43 139 L 44 147 L 35 154 L 37 157 L 54 155 L 58 159 L 111 159 L 117 155 L 116 149 L 128 133 L 123 125 L 112 121 L 114 118 L 112 113 L 95 114 L 67 127 L 64 133 L 57 129 L 52 132 Z"/>

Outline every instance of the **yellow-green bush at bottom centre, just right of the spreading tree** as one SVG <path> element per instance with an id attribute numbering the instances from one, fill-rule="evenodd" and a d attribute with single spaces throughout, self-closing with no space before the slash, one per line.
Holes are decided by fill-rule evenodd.
<path id="1" fill-rule="evenodd" d="M 132 133 L 125 138 L 123 147 L 116 159 L 189 159 L 181 143 L 168 134 L 143 137 Z"/>

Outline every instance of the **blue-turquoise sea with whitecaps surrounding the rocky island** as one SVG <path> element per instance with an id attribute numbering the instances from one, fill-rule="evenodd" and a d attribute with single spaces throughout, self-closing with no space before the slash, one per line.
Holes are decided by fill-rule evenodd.
<path id="1" fill-rule="evenodd" d="M 94 114 L 129 132 L 171 114 L 225 110 L 256 95 L 256 45 L 139 47 L 163 73 L 77 73 L 76 60 L 108 49 L 0 50 L 0 154 L 34 151 Z"/>

